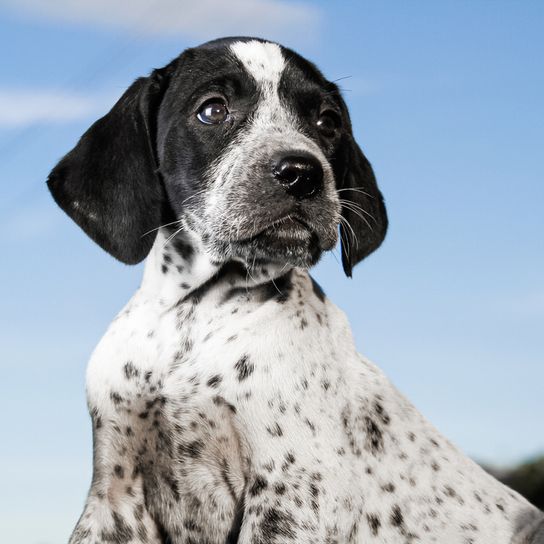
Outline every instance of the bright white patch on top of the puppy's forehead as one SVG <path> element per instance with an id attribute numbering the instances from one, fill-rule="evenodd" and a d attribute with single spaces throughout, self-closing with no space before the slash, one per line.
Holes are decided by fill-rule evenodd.
<path id="1" fill-rule="evenodd" d="M 251 40 L 233 43 L 230 49 L 257 83 L 279 84 L 285 59 L 277 43 Z"/>

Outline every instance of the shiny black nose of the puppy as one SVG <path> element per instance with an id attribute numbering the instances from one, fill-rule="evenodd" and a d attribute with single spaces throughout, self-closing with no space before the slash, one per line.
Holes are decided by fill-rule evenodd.
<path id="1" fill-rule="evenodd" d="M 323 168 L 311 156 L 280 157 L 274 165 L 273 173 L 287 193 L 295 198 L 310 198 L 323 187 Z"/>

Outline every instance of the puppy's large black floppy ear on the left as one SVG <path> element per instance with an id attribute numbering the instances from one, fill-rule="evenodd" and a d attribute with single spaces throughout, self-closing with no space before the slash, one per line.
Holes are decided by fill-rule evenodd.
<path id="1" fill-rule="evenodd" d="M 145 234 L 161 224 L 164 197 L 155 158 L 155 119 L 162 79 L 158 71 L 137 79 L 47 180 L 57 204 L 127 264 L 146 257 L 155 233 Z"/>

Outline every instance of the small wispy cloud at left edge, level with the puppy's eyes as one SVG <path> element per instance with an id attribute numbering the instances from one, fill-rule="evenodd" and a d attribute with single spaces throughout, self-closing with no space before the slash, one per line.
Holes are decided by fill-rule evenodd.
<path id="1" fill-rule="evenodd" d="M 25 128 L 67 123 L 105 111 L 110 97 L 87 96 L 53 89 L 0 88 L 0 128 Z"/>

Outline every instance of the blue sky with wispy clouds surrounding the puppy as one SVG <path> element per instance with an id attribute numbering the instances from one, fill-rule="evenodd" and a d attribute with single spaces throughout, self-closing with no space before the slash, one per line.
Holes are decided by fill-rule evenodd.
<path id="1" fill-rule="evenodd" d="M 61 544 L 91 476 L 87 360 L 137 288 L 53 203 L 56 161 L 140 75 L 258 35 L 341 80 L 390 230 L 315 276 L 361 352 L 474 458 L 544 451 L 544 3 L 0 0 L 0 531 Z"/>

